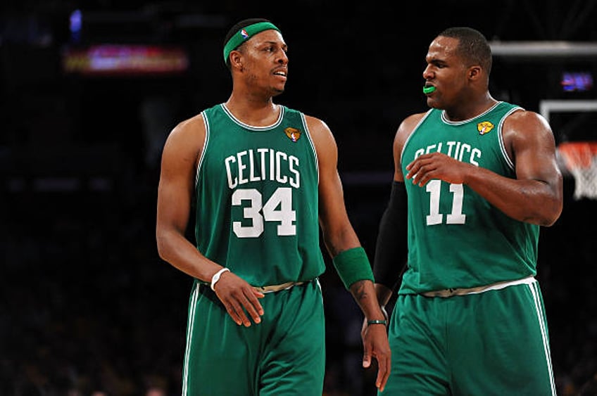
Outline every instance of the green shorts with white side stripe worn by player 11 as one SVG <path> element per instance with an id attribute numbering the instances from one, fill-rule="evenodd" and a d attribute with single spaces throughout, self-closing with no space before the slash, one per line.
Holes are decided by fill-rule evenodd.
<path id="1" fill-rule="evenodd" d="M 536 280 L 449 298 L 398 295 L 380 395 L 555 395 Z"/>

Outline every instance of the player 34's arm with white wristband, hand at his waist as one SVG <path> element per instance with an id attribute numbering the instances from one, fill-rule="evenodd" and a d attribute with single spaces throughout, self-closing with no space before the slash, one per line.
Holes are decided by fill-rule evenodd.
<path id="1" fill-rule="evenodd" d="M 199 253 L 185 236 L 195 172 L 204 141 L 205 127 L 200 116 L 178 124 L 166 140 L 158 185 L 156 241 L 163 260 L 185 274 L 209 283 L 223 267 Z M 263 297 L 263 293 L 239 276 L 224 272 L 215 287 L 215 294 L 237 324 L 251 326 L 246 313 L 253 322 L 260 322 L 263 308 L 258 298 Z"/>

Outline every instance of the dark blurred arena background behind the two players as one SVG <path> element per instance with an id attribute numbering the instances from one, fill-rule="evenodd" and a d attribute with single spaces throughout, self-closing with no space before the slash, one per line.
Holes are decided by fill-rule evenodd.
<path id="1" fill-rule="evenodd" d="M 339 146 L 346 206 L 372 259 L 389 196 L 391 143 L 426 110 L 429 42 L 468 25 L 491 41 L 597 41 L 596 1 L 4 1 L 0 18 L 0 395 L 180 394 L 191 279 L 155 243 L 159 156 L 175 124 L 225 101 L 222 39 L 242 18 L 270 18 L 289 44 L 277 103 L 325 120 Z M 407 11 L 408 8 L 408 11 Z M 79 9 L 83 27 L 69 30 Z M 61 51 L 93 44 L 177 45 L 176 75 L 84 76 Z M 597 75 L 596 55 L 496 56 L 491 92 L 539 111 L 565 71 Z M 596 112 L 553 114 L 557 143 L 594 140 Z M 566 170 L 564 169 L 566 172 Z M 596 205 L 565 178 L 558 222 L 541 229 L 537 278 L 560 395 L 597 374 Z M 327 395 L 372 395 L 360 368 L 360 311 L 332 267 Z M 232 380 L 231 380 L 232 381 Z M 103 392 L 103 394 L 99 393 Z M 158 394 L 155 394 L 156 396 Z"/>

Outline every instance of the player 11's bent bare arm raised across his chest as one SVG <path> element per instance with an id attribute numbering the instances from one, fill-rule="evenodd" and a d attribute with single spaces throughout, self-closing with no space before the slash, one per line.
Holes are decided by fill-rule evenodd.
<path id="1" fill-rule="evenodd" d="M 504 122 L 503 140 L 515 163 L 516 179 L 441 153 L 413 160 L 406 179 L 420 186 L 431 179 L 467 184 L 513 219 L 551 226 L 562 212 L 563 181 L 549 124 L 536 113 L 517 111 Z"/>

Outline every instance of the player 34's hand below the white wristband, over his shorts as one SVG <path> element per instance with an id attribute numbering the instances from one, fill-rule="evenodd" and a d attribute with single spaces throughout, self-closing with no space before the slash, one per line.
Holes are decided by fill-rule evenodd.
<path id="1" fill-rule="evenodd" d="M 265 295 L 255 290 L 244 279 L 232 272 L 224 272 L 213 289 L 236 324 L 239 326 L 242 324 L 245 327 L 251 326 L 251 321 L 246 313 L 253 319 L 253 322 L 260 323 L 263 307 L 258 298 L 263 298 Z"/>

